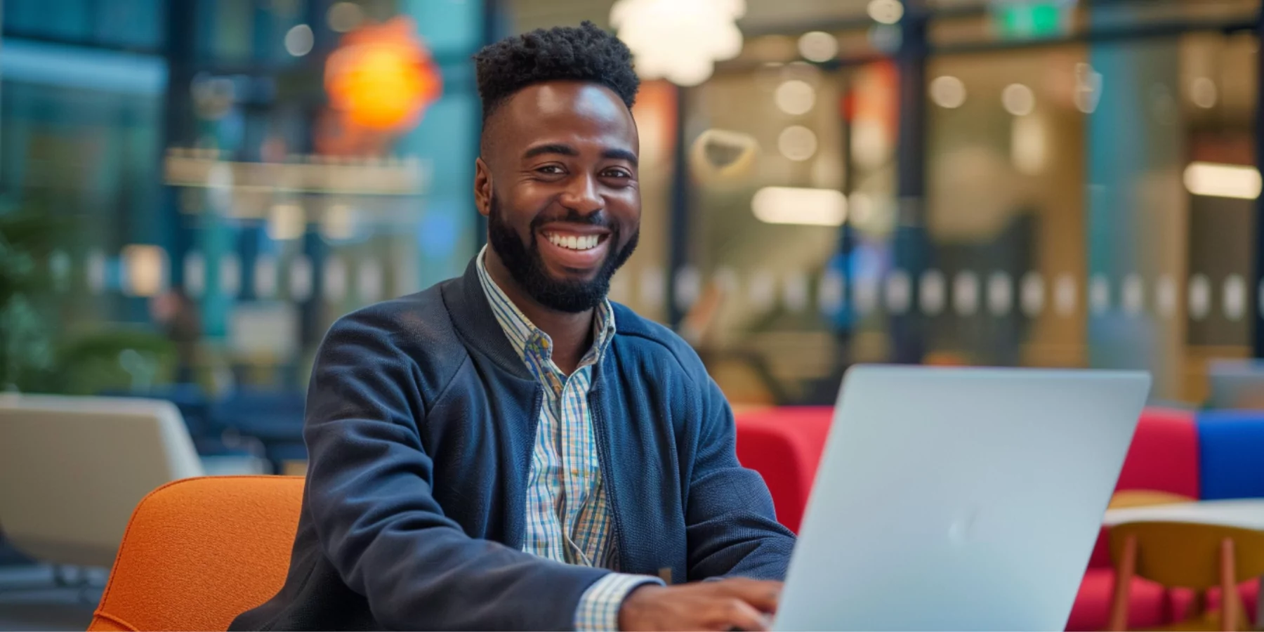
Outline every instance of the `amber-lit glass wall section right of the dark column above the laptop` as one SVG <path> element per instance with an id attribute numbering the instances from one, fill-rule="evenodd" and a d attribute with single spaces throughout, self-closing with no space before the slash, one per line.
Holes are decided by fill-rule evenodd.
<path id="1" fill-rule="evenodd" d="M 1208 358 L 1250 355 L 1254 201 L 1191 178 L 1254 168 L 1256 46 L 1191 33 L 933 59 L 928 231 L 961 268 L 945 274 L 985 289 L 938 319 L 934 348 L 1146 368 L 1173 401 L 1205 397 Z"/>

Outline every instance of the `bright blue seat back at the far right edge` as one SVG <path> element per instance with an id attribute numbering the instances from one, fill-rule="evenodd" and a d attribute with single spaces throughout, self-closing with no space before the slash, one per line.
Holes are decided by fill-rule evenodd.
<path id="1" fill-rule="evenodd" d="M 1198 413 L 1201 498 L 1264 498 L 1264 411 Z"/>

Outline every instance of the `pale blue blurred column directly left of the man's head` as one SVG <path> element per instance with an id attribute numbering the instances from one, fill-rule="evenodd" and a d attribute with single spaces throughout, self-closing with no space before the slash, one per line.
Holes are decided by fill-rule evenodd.
<path id="1" fill-rule="evenodd" d="M 398 144 L 399 154 L 416 155 L 428 169 L 416 224 L 417 281 L 428 287 L 459 276 L 479 243 L 474 161 L 482 119 L 469 57 L 483 46 L 487 16 L 473 0 L 406 0 L 399 10 L 417 23 L 444 80 L 442 97 Z"/>

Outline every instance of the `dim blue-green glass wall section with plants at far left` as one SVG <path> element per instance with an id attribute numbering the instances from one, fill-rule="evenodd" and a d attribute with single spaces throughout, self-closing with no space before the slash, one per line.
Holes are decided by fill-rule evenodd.
<path id="1" fill-rule="evenodd" d="M 104 322 L 144 317 L 120 253 L 157 243 L 167 62 L 158 3 L 4 3 L 4 387 L 95 389 Z M 119 331 L 121 346 L 138 334 Z M 73 339 L 73 341 L 72 341 Z M 85 367 L 75 375 L 59 367 Z M 120 367 L 114 373 L 125 375 Z"/>

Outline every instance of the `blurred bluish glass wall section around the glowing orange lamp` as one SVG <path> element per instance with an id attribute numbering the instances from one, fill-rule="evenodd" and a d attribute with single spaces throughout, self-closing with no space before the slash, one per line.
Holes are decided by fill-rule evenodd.
<path id="1" fill-rule="evenodd" d="M 187 229 L 181 282 L 201 302 L 211 374 L 202 380 L 217 388 L 301 387 L 335 319 L 455 274 L 477 239 L 464 212 L 469 187 L 455 186 L 471 177 L 477 147 L 466 63 L 482 42 L 477 4 L 270 9 L 198 5 L 197 23 L 209 27 L 193 62 L 195 118 L 186 144 L 168 148 Z M 421 76 L 355 66 L 370 56 L 406 56 L 399 63 L 415 67 L 404 72 Z M 220 70 L 241 61 L 249 72 Z M 391 92 L 399 81 L 423 87 Z M 340 92 L 373 82 L 387 86 L 386 100 Z M 340 106 L 369 118 L 411 111 L 378 125 Z"/>

